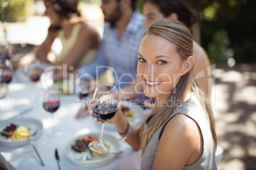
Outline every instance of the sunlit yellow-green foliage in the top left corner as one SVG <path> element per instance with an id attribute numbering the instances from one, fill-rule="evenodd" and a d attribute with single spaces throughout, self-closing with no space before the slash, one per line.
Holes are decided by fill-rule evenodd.
<path id="1" fill-rule="evenodd" d="M 24 21 L 29 15 L 33 0 L 1 0 L 0 20 L 4 22 Z"/>

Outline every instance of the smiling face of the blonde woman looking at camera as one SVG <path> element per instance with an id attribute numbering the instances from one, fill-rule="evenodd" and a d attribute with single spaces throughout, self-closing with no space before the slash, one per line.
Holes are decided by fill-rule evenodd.
<path id="1" fill-rule="evenodd" d="M 183 74 L 176 46 L 163 37 L 146 35 L 139 46 L 137 73 L 146 96 L 167 99 Z"/>

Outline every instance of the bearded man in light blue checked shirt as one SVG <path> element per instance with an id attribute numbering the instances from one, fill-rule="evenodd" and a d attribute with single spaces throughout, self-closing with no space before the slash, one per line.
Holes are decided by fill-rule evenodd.
<path id="1" fill-rule="evenodd" d="M 138 84 L 140 81 L 139 77 L 136 77 L 136 70 L 139 44 L 145 32 L 142 27 L 145 18 L 136 10 L 136 0 L 103 0 L 101 10 L 104 14 L 104 32 L 96 61 L 84 65 L 78 73 L 80 75 L 87 73 L 96 77 L 107 67 L 111 67 L 115 86 L 120 91 L 122 89 L 119 99 L 141 100 L 145 96 L 142 85 Z M 97 69 L 98 66 L 103 68 Z M 83 110 L 88 114 L 85 107 L 79 110 L 76 117 L 81 117 Z"/>

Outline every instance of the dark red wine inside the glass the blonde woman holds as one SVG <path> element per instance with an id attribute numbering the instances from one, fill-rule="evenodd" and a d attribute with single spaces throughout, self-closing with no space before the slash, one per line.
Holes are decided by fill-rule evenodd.
<path id="1" fill-rule="evenodd" d="M 117 106 L 111 103 L 101 103 L 92 107 L 92 111 L 99 121 L 105 122 L 114 117 L 117 112 Z"/>

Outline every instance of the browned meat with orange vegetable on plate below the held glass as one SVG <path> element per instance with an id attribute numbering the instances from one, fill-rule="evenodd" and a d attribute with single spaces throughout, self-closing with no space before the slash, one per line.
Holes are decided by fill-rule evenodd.
<path id="1" fill-rule="evenodd" d="M 71 146 L 71 148 L 73 150 L 75 150 L 76 152 L 85 152 L 85 150 L 87 150 L 88 145 L 90 142 L 92 141 L 97 141 L 98 138 L 96 138 L 95 136 L 87 136 L 87 137 L 81 137 L 78 140 L 75 141 L 75 144 Z"/>

